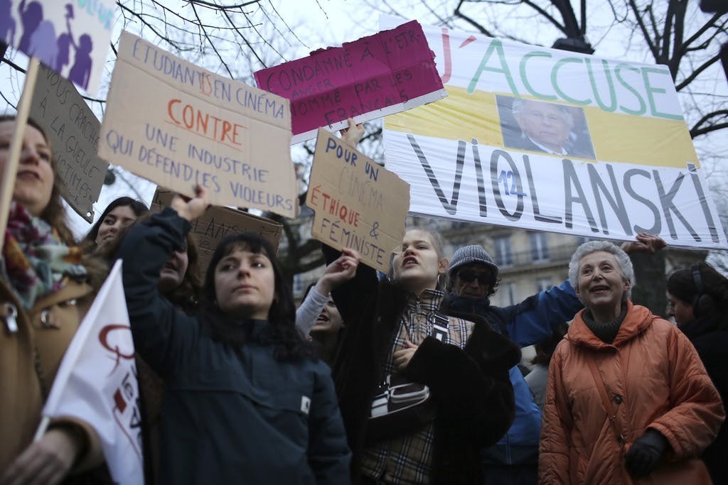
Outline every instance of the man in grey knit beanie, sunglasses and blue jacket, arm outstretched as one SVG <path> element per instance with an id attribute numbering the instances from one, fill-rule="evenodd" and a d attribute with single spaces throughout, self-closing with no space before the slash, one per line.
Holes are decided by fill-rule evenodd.
<path id="1" fill-rule="evenodd" d="M 657 236 L 639 233 L 636 241 L 622 245 L 625 252 L 654 252 L 665 246 Z M 456 250 L 448 268 L 446 290 L 454 310 L 476 313 L 519 347 L 550 337 L 554 329 L 574 318 L 584 305 L 569 280 L 506 307 L 491 305 L 498 286 L 498 266 L 481 246 Z M 515 418 L 507 433 L 482 454 L 486 484 L 536 485 L 542 413 L 518 369 L 509 372 L 515 397 Z"/>

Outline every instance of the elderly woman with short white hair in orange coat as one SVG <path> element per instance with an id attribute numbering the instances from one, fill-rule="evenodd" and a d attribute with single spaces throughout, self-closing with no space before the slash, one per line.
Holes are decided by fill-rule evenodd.
<path id="1" fill-rule="evenodd" d="M 632 263 L 614 244 L 579 246 L 569 280 L 586 308 L 550 364 L 539 483 L 709 484 L 695 457 L 725 413 L 695 348 L 629 300 Z"/>

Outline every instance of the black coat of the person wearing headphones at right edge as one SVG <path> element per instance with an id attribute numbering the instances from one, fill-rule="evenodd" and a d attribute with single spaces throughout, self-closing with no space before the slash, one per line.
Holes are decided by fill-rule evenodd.
<path id="1" fill-rule="evenodd" d="M 723 317 L 725 318 L 725 317 Z M 723 323 L 723 325 L 719 325 Z M 708 376 L 716 386 L 723 405 L 728 402 L 728 326 L 719 317 L 698 318 L 680 326 L 695 346 Z M 716 440 L 700 456 L 711 472 L 713 484 L 728 484 L 728 421 L 724 421 Z"/>

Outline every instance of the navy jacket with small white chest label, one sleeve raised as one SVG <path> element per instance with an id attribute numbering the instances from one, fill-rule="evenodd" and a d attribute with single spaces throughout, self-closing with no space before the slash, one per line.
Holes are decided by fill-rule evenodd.
<path id="1" fill-rule="evenodd" d="M 347 484 L 350 453 L 331 372 L 278 361 L 267 321 L 241 320 L 234 347 L 157 290 L 190 225 L 171 209 L 135 225 L 119 249 L 134 344 L 165 380 L 162 484 Z"/>

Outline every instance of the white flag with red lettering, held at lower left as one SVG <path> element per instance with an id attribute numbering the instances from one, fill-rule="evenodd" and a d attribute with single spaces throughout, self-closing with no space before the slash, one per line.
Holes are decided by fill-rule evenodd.
<path id="1" fill-rule="evenodd" d="M 139 385 L 121 260 L 71 340 L 43 414 L 92 425 L 114 481 L 144 483 Z"/>

